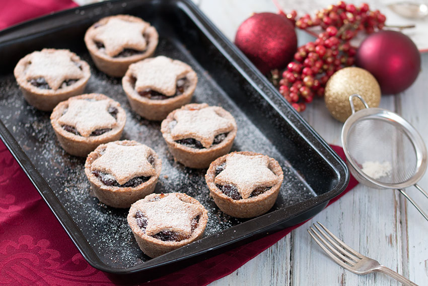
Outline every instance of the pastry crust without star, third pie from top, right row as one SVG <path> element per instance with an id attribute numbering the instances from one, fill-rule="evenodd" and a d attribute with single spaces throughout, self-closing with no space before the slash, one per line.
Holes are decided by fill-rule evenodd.
<path id="1" fill-rule="evenodd" d="M 174 121 L 175 112 L 177 112 L 177 110 L 194 110 L 205 107 L 208 107 L 208 104 L 187 104 L 181 107 L 180 109 L 176 109 L 169 113 L 168 117 L 164 121 L 162 121 L 161 125 L 162 136 L 167 142 L 168 149 L 174 156 L 174 160 L 190 168 L 207 168 L 213 160 L 224 154 L 227 154 L 230 151 L 233 145 L 233 141 L 236 137 L 237 126 L 234 117 L 222 107 L 216 106 L 218 107 L 217 112 L 219 113 L 219 115 L 226 119 L 230 119 L 233 122 L 234 126 L 221 143 L 212 145 L 209 148 L 196 149 L 175 142 L 171 136 L 170 129 L 170 123 Z"/>

